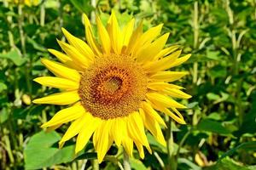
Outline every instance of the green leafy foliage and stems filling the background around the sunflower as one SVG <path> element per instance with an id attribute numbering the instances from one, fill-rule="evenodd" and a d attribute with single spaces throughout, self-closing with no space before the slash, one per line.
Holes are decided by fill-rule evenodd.
<path id="1" fill-rule="evenodd" d="M 60 49 L 61 27 L 84 39 L 81 14 L 107 20 L 113 8 L 120 25 L 131 18 L 144 29 L 164 23 L 169 44 L 183 46 L 191 59 L 178 70 L 190 75 L 177 84 L 192 99 L 181 101 L 187 125 L 166 118 L 167 148 L 148 133 L 153 154 L 133 169 L 256 169 L 256 1 L 255 0 L 45 0 L 26 6 L 0 0 L 0 169 L 118 169 L 122 150 L 113 145 L 99 166 L 92 144 L 73 155 L 74 140 L 61 150 L 57 142 L 67 125 L 44 133 L 43 122 L 57 106 L 33 105 L 31 99 L 52 94 L 32 79 L 49 72 L 40 58 L 47 48 Z M 104 14 L 102 14 L 103 12 Z M 254 166 L 253 166 L 254 165 Z"/>

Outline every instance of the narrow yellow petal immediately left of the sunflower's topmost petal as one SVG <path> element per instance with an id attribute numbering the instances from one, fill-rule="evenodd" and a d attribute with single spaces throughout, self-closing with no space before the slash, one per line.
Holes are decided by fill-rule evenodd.
<path id="1" fill-rule="evenodd" d="M 102 49 L 106 54 L 109 54 L 111 49 L 110 38 L 108 35 L 108 31 L 106 30 L 105 26 L 102 25 L 102 21 L 98 15 L 96 16 L 96 23 L 98 28 L 98 34 L 102 42 Z"/>

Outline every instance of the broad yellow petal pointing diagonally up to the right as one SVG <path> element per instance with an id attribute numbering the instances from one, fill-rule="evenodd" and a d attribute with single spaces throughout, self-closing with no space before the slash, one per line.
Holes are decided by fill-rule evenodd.
<path id="1" fill-rule="evenodd" d="M 137 62 L 143 63 L 154 59 L 155 55 L 159 54 L 160 50 L 164 48 L 166 41 L 169 37 L 169 34 L 170 33 L 166 33 L 165 35 L 156 39 L 154 42 L 150 43 L 145 48 L 139 50 L 138 53 L 135 54 L 137 56 Z"/>

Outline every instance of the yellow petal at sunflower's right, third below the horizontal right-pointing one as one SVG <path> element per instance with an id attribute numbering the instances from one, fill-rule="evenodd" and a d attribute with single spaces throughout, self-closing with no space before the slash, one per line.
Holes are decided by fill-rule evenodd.
<path id="1" fill-rule="evenodd" d="M 175 101 L 174 99 L 171 99 L 170 97 L 163 94 L 148 93 L 146 94 L 146 96 L 155 105 L 163 105 L 164 107 L 167 107 L 167 108 L 170 108 L 170 107 L 182 108 L 182 109 L 186 108 L 186 106 L 177 103 L 177 101 Z"/>

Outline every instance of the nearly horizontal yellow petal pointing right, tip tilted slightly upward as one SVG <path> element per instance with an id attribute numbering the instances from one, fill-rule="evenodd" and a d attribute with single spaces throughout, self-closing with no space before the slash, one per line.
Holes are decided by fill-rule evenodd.
<path id="1" fill-rule="evenodd" d="M 188 75 L 187 71 L 159 71 L 150 77 L 153 82 L 174 82 Z"/>

